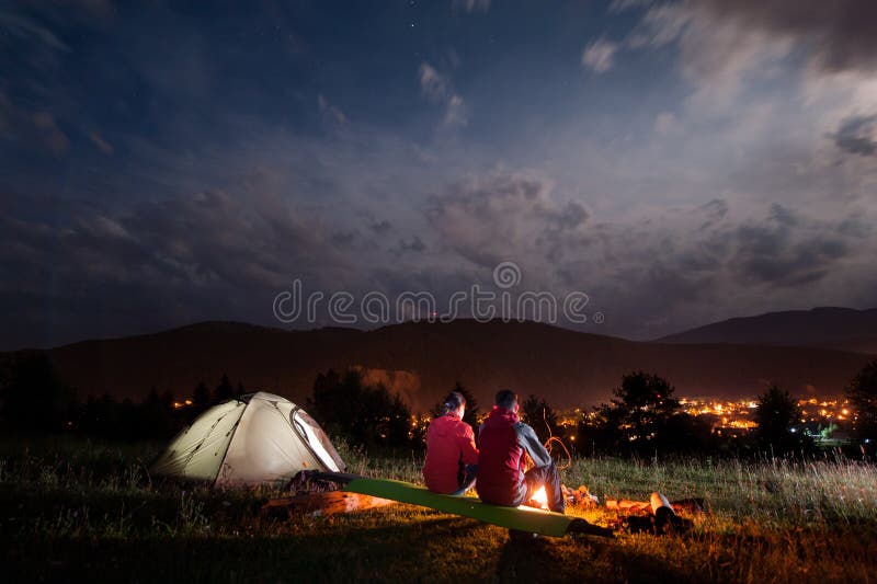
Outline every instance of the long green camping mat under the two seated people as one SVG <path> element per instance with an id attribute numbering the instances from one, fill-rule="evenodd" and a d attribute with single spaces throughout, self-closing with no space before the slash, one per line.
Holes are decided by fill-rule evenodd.
<path id="1" fill-rule="evenodd" d="M 323 473 L 327 477 L 330 473 Z M 341 473 L 338 474 L 339 477 Z M 563 537 L 568 533 L 584 533 L 612 536 L 610 529 L 589 524 L 584 519 L 533 507 L 503 507 L 482 503 L 469 496 L 442 495 L 423 486 L 387 479 L 344 476 L 343 490 L 363 495 L 389 499 L 400 503 L 421 505 L 485 523 L 551 537 Z"/>

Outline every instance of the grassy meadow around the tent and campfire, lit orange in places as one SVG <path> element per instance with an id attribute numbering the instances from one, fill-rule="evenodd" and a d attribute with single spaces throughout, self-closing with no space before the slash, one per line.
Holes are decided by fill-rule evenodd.
<path id="1" fill-rule="evenodd" d="M 160 445 L 0 444 L 0 539 L 9 581 L 869 582 L 877 469 L 845 459 L 574 460 L 565 482 L 601 500 L 704 497 L 686 535 L 544 538 L 408 505 L 333 517 L 265 516 L 271 489 L 152 480 Z M 342 447 L 351 471 L 418 482 L 417 456 Z M 576 512 L 605 525 L 607 511 Z M 4 577 L 4 580 L 7 580 Z"/>

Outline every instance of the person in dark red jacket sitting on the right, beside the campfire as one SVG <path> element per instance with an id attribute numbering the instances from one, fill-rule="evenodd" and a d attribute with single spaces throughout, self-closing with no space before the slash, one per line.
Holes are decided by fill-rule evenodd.
<path id="1" fill-rule="evenodd" d="M 517 396 L 504 389 L 478 434 L 480 447 L 476 490 L 485 503 L 516 507 L 545 486 L 548 508 L 563 513 L 567 502 L 551 455 L 536 433 L 517 417 Z M 525 472 L 526 457 L 533 468 Z"/>

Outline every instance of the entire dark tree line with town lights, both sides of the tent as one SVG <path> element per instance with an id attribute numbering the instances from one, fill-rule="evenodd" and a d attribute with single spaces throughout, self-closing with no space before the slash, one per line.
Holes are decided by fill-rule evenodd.
<path id="1" fill-rule="evenodd" d="M 464 421 L 477 434 L 481 409 L 471 392 L 457 382 L 454 391 L 467 400 Z M 123 439 L 169 438 L 207 408 L 244 394 L 241 383 L 227 375 L 210 388 L 198 383 L 191 396 L 175 398 L 170 391 L 152 389 L 139 402 L 109 396 L 77 399 L 45 354 L 34 353 L 0 369 L 0 419 L 14 432 L 75 432 L 89 436 Z M 812 453 L 815 445 L 804 432 L 794 432 L 801 417 L 797 401 L 788 391 L 772 386 L 756 399 L 753 420 L 758 427 L 731 438 L 714 432 L 703 416 L 683 411 L 675 388 L 662 377 L 633 371 L 613 389 L 613 399 L 583 412 L 572 427 L 561 427 L 558 415 L 545 399 L 521 397 L 521 417 L 543 442 L 555 436 L 582 455 L 640 456 L 771 453 Z M 851 380 L 846 396 L 857 419 L 855 437 L 863 449 L 877 443 L 877 360 Z M 180 401 L 175 401 L 175 400 Z M 428 424 L 413 415 L 409 405 L 383 385 L 367 385 L 361 371 L 328 370 L 317 375 L 306 409 L 333 437 L 365 448 L 425 446 Z M 438 415 L 441 403 L 432 409 Z"/>

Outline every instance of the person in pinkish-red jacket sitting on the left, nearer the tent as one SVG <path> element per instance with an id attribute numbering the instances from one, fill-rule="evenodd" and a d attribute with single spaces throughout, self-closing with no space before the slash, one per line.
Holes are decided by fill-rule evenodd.
<path id="1" fill-rule="evenodd" d="M 435 493 L 463 494 L 471 489 L 478 468 L 478 448 L 472 427 L 463 421 L 466 398 L 452 391 L 442 405 L 442 415 L 426 430 L 426 462 L 423 480 Z"/>

